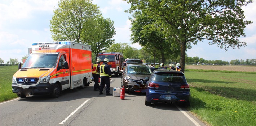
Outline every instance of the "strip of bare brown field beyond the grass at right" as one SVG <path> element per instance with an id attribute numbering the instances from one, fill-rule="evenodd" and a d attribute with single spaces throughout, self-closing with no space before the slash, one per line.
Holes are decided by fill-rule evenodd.
<path id="1" fill-rule="evenodd" d="M 243 71 L 256 72 L 256 66 L 213 66 L 213 65 L 186 65 L 185 69 L 203 69 L 203 70 L 220 70 L 220 71 Z"/>

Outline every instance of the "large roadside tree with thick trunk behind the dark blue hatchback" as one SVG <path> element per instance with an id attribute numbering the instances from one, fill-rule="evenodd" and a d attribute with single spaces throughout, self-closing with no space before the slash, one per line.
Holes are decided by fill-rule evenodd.
<path id="1" fill-rule="evenodd" d="M 162 20 L 165 37 L 172 37 L 180 44 L 181 67 L 185 68 L 185 53 L 191 44 L 208 40 L 221 49 L 245 47 L 239 41 L 245 36 L 246 25 L 242 6 L 252 0 L 124 0 L 131 3 L 126 12 L 141 10 L 151 18 Z M 184 69 L 182 69 L 184 72 Z"/>

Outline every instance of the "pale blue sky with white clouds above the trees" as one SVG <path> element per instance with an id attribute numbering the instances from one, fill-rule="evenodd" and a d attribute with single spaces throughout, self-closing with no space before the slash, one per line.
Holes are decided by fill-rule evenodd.
<path id="1" fill-rule="evenodd" d="M 54 15 L 54 7 L 58 7 L 59 0 L 0 0 L 0 58 L 4 63 L 12 59 L 21 62 L 22 57 L 28 54 L 28 48 L 32 43 L 51 42 L 50 20 Z M 96 4 L 104 18 L 114 21 L 116 35 L 113 37 L 116 43 L 131 43 L 132 14 L 124 10 L 130 8 L 130 4 L 123 0 L 92 0 Z M 235 59 L 256 59 L 256 3 L 250 3 L 243 7 L 246 20 L 253 24 L 246 26 L 246 37 L 239 38 L 247 43 L 240 49 L 228 48 L 228 51 L 220 49 L 208 42 L 198 42 L 187 50 L 189 57 L 199 57 L 205 60 L 228 61 Z M 141 49 L 139 44 L 131 44 L 131 47 Z"/>

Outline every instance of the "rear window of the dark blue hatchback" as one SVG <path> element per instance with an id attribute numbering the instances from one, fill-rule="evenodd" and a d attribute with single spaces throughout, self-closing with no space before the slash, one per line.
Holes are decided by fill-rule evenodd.
<path id="1" fill-rule="evenodd" d="M 186 82 L 185 76 L 179 73 L 155 73 L 152 77 L 153 81 L 158 82 Z"/>

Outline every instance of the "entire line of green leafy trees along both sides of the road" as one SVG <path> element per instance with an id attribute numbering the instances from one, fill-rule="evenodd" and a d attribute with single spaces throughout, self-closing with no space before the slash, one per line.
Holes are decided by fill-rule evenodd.
<path id="1" fill-rule="evenodd" d="M 252 0 L 124 1 L 131 4 L 125 10 L 133 17 L 129 18 L 132 22 L 131 41 L 143 47 L 138 50 L 141 56 L 131 53 L 136 49 L 129 46 L 124 54 L 128 52 L 127 57 L 139 59 L 150 57 L 149 60 L 153 58 L 154 63 L 156 60 L 164 64 L 179 62 L 184 68 L 185 63 L 193 63 L 186 61 L 191 59 L 186 58 L 186 50 L 203 40 L 225 50 L 245 47 L 246 42 L 240 41 L 239 37 L 246 36 L 246 25 L 252 24 L 252 21 L 245 20 L 242 10 L 242 6 L 252 3 Z M 71 40 L 91 45 L 95 59 L 98 53 L 110 51 L 115 44 L 115 39 L 112 39 L 115 35 L 114 22 L 103 18 L 92 0 L 61 0 L 54 9 L 50 20 L 54 41 Z"/>

